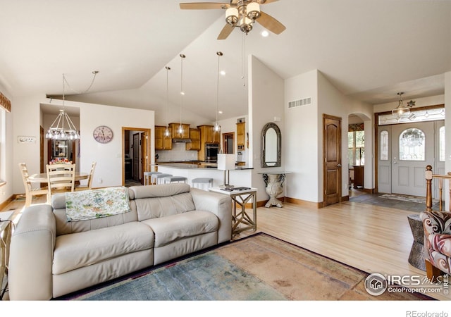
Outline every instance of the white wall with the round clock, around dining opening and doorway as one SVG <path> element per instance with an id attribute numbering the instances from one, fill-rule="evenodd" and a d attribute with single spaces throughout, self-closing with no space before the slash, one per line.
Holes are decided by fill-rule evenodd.
<path id="1" fill-rule="evenodd" d="M 18 163 L 27 163 L 30 174 L 39 173 L 39 120 L 24 118 L 41 118 L 39 104 L 48 100 L 42 96 L 18 97 L 15 100 L 14 129 L 12 139 L 18 135 L 37 137 L 35 144 L 14 143 L 13 147 L 13 193 L 25 192 Z M 52 101 L 52 106 L 61 108 L 62 101 Z M 97 161 L 93 187 L 122 185 L 122 128 L 151 129 L 151 140 L 154 139 L 154 111 L 85 104 L 67 101 L 65 106 L 80 108 L 80 171 L 89 172 L 92 161 Z M 44 124 L 44 123 L 42 123 Z M 100 144 L 92 137 L 92 131 L 99 125 L 108 125 L 113 130 L 113 140 Z M 154 159 L 154 147 L 151 142 L 151 163 Z"/>

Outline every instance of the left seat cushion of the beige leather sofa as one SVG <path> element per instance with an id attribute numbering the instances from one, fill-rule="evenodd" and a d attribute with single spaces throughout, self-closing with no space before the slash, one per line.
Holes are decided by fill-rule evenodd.
<path id="1" fill-rule="evenodd" d="M 52 271 L 66 273 L 152 247 L 154 232 L 138 222 L 60 235 L 56 237 Z"/>

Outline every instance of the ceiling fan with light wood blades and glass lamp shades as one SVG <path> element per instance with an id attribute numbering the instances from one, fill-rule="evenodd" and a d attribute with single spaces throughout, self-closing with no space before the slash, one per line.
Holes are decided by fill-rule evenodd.
<path id="1" fill-rule="evenodd" d="M 267 30 L 280 34 L 285 30 L 285 25 L 273 18 L 271 15 L 260 11 L 261 4 L 271 4 L 278 0 L 230 0 L 230 3 L 218 2 L 192 2 L 181 3 L 183 10 L 226 10 L 226 25 L 218 35 L 218 39 L 226 39 L 233 31 L 234 27 L 240 27 L 242 32 L 247 35 L 252 30 L 254 22 L 260 23 Z"/>

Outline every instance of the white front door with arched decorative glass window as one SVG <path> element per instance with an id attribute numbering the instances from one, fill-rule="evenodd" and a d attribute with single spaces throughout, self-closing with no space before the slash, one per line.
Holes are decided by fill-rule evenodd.
<path id="1" fill-rule="evenodd" d="M 424 170 L 435 163 L 433 121 L 392 125 L 392 192 L 426 196 Z"/>

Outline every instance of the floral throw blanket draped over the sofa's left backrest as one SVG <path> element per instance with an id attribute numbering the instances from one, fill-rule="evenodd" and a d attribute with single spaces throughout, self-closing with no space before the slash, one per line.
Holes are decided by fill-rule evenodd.
<path id="1" fill-rule="evenodd" d="M 66 192 L 68 221 L 103 218 L 130 211 L 127 187 Z"/>

